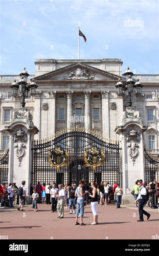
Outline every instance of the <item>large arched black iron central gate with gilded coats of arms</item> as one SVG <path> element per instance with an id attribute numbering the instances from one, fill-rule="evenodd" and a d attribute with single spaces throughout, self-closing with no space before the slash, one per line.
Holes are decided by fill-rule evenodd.
<path id="1" fill-rule="evenodd" d="M 62 134 L 63 133 L 63 134 Z M 33 164 L 33 183 L 34 187 L 39 181 L 46 184 L 52 181 L 56 184 L 66 184 L 67 182 L 77 183 L 82 180 L 88 182 L 101 181 L 109 182 L 113 185 L 114 181 L 121 183 L 120 172 L 120 148 L 119 144 L 108 143 L 90 133 L 74 129 L 70 132 L 62 132 L 55 135 L 50 141 L 35 141 L 34 143 L 34 164 Z M 59 150 L 59 155 L 56 150 Z M 56 152 L 55 152 L 56 151 Z M 97 167 L 87 166 L 84 161 L 86 152 L 92 152 L 92 161 Z M 101 157 L 101 152 L 103 152 Z M 97 156 L 98 153 L 98 156 Z M 65 166 L 55 166 L 63 158 Z M 61 154 L 61 156 L 60 156 Z M 86 157 L 88 158 L 88 156 Z M 52 159 L 52 163 L 50 162 Z M 101 165 L 102 163 L 102 165 Z"/>

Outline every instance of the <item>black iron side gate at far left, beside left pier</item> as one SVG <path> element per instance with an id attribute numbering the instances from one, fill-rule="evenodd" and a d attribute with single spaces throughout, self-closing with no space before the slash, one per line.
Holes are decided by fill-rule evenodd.
<path id="1" fill-rule="evenodd" d="M 6 183 L 6 186 L 8 186 L 8 163 L 9 149 L 4 151 L 4 155 L 0 158 L 0 182 Z"/>

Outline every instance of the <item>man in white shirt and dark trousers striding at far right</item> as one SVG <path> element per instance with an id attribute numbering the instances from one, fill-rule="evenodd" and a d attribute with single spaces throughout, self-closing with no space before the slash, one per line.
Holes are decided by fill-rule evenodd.
<path id="1" fill-rule="evenodd" d="M 140 190 L 139 190 L 138 198 L 135 202 L 137 202 L 137 201 L 139 202 L 140 220 L 137 220 L 137 221 L 144 221 L 143 214 L 145 214 L 147 216 L 147 220 L 149 220 L 151 214 L 149 214 L 145 210 L 143 210 L 144 204 L 146 203 L 146 201 L 142 198 L 142 195 L 146 195 L 147 192 L 146 192 L 146 188 L 143 186 L 143 181 L 142 180 L 140 180 L 138 182 L 138 186 L 140 187 Z"/>

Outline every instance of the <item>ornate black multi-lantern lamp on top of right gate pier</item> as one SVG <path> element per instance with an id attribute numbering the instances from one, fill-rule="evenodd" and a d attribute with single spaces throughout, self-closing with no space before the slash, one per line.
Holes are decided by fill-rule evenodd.
<path id="1" fill-rule="evenodd" d="M 117 88 L 117 94 L 119 96 L 123 96 L 124 92 L 126 94 L 126 98 L 128 98 L 128 107 L 132 106 L 131 102 L 131 93 L 133 92 L 133 89 L 135 88 L 136 90 L 136 95 L 141 95 L 142 92 L 142 87 L 143 85 L 139 82 L 139 78 L 137 78 L 137 82 L 135 83 L 133 78 L 131 77 L 133 72 L 127 67 L 126 72 L 123 74 L 124 78 L 126 78 L 126 85 L 124 86 L 122 82 L 120 82 L 120 78 L 118 79 L 119 82 L 116 84 Z"/>

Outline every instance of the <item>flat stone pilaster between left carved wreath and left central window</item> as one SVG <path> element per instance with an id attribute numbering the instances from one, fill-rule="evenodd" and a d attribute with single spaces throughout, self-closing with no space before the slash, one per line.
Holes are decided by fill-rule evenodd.
<path id="1" fill-rule="evenodd" d="M 52 136 L 55 134 L 55 122 L 56 122 L 56 92 L 48 92 L 50 98 L 49 98 L 49 121 L 48 121 L 48 136 Z"/>

